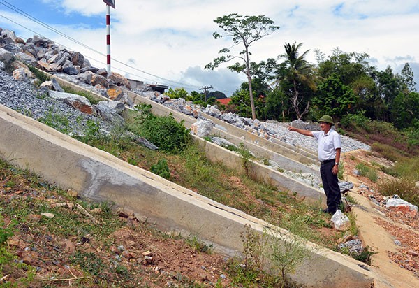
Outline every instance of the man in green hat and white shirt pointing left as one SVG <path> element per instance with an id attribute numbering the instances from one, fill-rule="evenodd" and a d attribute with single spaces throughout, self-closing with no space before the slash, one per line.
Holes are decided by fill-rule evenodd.
<path id="1" fill-rule="evenodd" d="M 340 208 L 342 201 L 337 180 L 341 154 L 341 138 L 337 131 L 332 129 L 332 125 L 334 125 L 332 117 L 324 115 L 318 122 L 320 123 L 321 131 L 308 131 L 292 126 L 288 126 L 288 130 L 297 131 L 302 135 L 317 139 L 321 180 L 328 203 L 328 208 L 323 209 L 323 212 L 334 214 Z"/>

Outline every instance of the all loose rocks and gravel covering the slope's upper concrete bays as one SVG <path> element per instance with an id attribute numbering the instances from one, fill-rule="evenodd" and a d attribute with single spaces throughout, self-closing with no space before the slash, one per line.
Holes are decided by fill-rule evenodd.
<path id="1" fill-rule="evenodd" d="M 74 94 L 62 93 L 63 89 L 57 81 L 47 81 L 36 89 L 32 83 L 36 81 L 35 75 L 31 73 L 28 66 L 57 75 L 68 82 L 73 82 L 96 94 L 105 96 L 108 101 L 101 101 L 97 105 L 91 105 L 87 99 Z M 13 73 L 13 78 L 2 69 Z M 133 108 L 133 103 L 123 89 L 131 90 L 130 81 L 118 73 L 112 72 L 108 75 L 105 69 L 98 69 L 91 66 L 89 61 L 79 52 L 68 51 L 66 48 L 55 44 L 49 39 L 34 36 L 24 41 L 15 36 L 13 31 L 0 28 L 0 103 L 29 117 L 34 117 L 43 122 L 55 121 L 53 127 L 60 129 L 60 125 L 71 127 L 71 131 L 64 131 L 71 136 L 83 135 L 89 127 L 89 121 L 100 125 L 101 131 L 108 134 L 112 127 L 123 126 L 122 113 L 126 107 Z M 316 154 L 317 144 L 314 138 L 302 136 L 288 131 L 289 123 L 276 121 L 261 122 L 250 118 L 240 117 L 233 113 L 221 113 L 217 106 L 201 107 L 194 105 L 184 99 L 170 99 L 165 94 L 154 92 L 147 85 L 134 89 L 133 92 L 140 94 L 152 101 L 162 103 L 168 108 L 191 115 L 198 120 L 212 122 L 207 115 L 216 117 L 224 122 L 240 127 L 260 137 L 273 141 L 277 139 Z M 58 117 L 61 115 L 62 117 Z M 66 123 L 60 123 L 59 120 Z M 68 123 L 70 123 L 68 125 Z M 51 124 L 51 123 L 50 123 Z M 211 123 L 214 125 L 214 123 Z M 291 123 L 306 129 L 318 129 L 318 125 L 295 121 Z M 212 127 L 210 125 L 210 127 Z M 225 129 L 215 125 L 219 129 Z M 65 127 L 64 127 L 65 128 Z M 68 128 L 65 128 L 68 129 Z M 61 129 L 62 131 L 62 129 Z M 208 129 L 210 131 L 210 129 Z M 133 136 L 133 135 L 131 135 Z M 156 149 L 152 143 L 143 138 L 133 136 L 135 141 Z M 212 137 L 218 145 L 233 145 L 226 143 L 225 139 Z M 369 146 L 360 143 L 352 138 L 342 136 L 343 152 L 364 149 Z M 276 168 L 277 164 L 270 161 L 270 166 Z M 316 188 L 320 188 L 321 180 L 318 175 L 300 174 L 285 171 L 293 178 L 305 182 Z"/>

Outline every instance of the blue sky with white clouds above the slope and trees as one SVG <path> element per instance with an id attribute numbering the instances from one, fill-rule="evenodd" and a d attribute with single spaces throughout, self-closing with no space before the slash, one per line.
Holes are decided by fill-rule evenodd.
<path id="1" fill-rule="evenodd" d="M 366 52 L 379 70 L 391 66 L 399 72 L 409 62 L 419 90 L 417 0 L 116 0 L 116 9 L 110 10 L 112 71 L 128 78 L 188 90 L 212 86 L 230 95 L 244 75 L 226 66 L 216 71 L 204 66 L 231 44 L 212 37 L 218 30 L 213 20 L 238 13 L 266 15 L 281 27 L 251 46 L 254 62 L 283 54 L 284 43 L 293 42 L 310 50 L 307 57 L 313 63 L 315 50 L 325 55 L 335 48 Z M 0 0 L 0 27 L 22 38 L 35 31 L 105 67 L 105 11 L 102 0 Z"/>

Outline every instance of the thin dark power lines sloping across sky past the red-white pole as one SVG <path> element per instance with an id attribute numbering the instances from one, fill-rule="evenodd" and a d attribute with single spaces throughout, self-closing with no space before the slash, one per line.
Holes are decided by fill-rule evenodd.
<path id="1" fill-rule="evenodd" d="M 59 34 L 60 36 L 63 36 L 64 38 L 66 38 L 66 39 L 68 39 L 68 40 L 70 40 L 70 41 L 73 41 L 74 43 L 77 43 L 77 44 L 81 45 L 82 47 L 87 48 L 88 50 L 91 50 L 92 52 L 95 52 L 95 53 L 97 53 L 97 54 L 99 54 L 99 55 L 101 55 L 101 56 L 103 56 L 103 57 L 105 57 L 105 56 L 106 56 L 106 55 L 105 55 L 105 54 L 103 54 L 102 52 L 100 52 L 100 51 L 98 51 L 98 50 L 95 50 L 94 48 L 91 48 L 89 45 L 86 45 L 86 44 L 84 44 L 84 43 L 82 43 L 82 42 L 80 42 L 80 41 L 78 41 L 78 40 L 76 40 L 76 39 L 72 38 L 71 36 L 68 36 L 67 34 L 64 34 L 63 32 L 59 31 L 58 29 L 55 29 L 54 27 L 52 27 L 52 26 L 50 26 L 50 25 L 46 24 L 45 22 L 43 22 L 43 21 L 41 21 L 41 20 L 38 20 L 36 17 L 34 17 L 34 16 L 32 16 L 32 15 L 30 15 L 30 14 L 28 14 L 28 13 L 24 12 L 24 11 L 23 11 L 23 10 L 21 10 L 20 8 L 17 8 L 16 6 L 13 6 L 13 4 L 9 3 L 8 1 L 4 1 L 4 0 L 0 0 L 0 1 L 1 1 L 1 4 L 3 4 L 4 6 L 6 6 L 6 7 L 10 8 L 11 10 L 15 11 L 16 13 L 18 13 L 18 14 L 20 14 L 20 15 L 24 16 L 24 17 L 27 17 L 29 20 L 31 20 L 31 21 L 33 21 L 33 22 L 36 22 L 37 24 L 40 24 L 41 26 L 43 26 L 43 27 L 45 27 L 45 28 L 47 28 L 47 29 L 49 29 L 49 30 L 53 31 L 54 33 Z M 37 33 L 36 31 L 34 31 L 34 30 L 32 30 L 32 29 L 29 29 L 29 28 L 27 28 L 27 27 L 24 27 L 22 24 L 19 24 L 19 23 L 17 23 L 17 22 L 15 22 L 15 21 L 13 21 L 13 20 L 10 20 L 10 19 L 9 19 L 8 17 L 6 17 L 6 16 L 3 16 L 3 15 L 1 15 L 1 14 L 0 14 L 0 16 L 1 16 L 1 17 L 4 17 L 5 19 L 9 20 L 10 22 L 13 22 L 13 23 L 15 23 L 15 24 L 19 25 L 20 27 L 23 27 L 24 29 L 27 29 L 27 30 L 29 30 L 29 31 L 33 32 L 34 34 L 38 34 L 38 35 L 42 36 L 41 34 Z M 47 37 L 45 37 L 45 36 L 43 36 L 43 37 L 44 37 L 44 38 L 47 38 Z M 58 43 L 58 44 L 59 44 L 59 43 Z M 59 45 L 62 45 L 62 44 L 59 44 Z M 68 48 L 68 47 L 66 47 L 65 45 L 62 45 L 62 46 L 64 46 L 65 48 Z M 68 48 L 68 49 L 69 49 L 69 50 L 72 50 L 71 48 Z M 91 57 L 89 57 L 89 58 L 91 58 Z M 91 58 L 91 59 L 94 59 L 94 58 Z M 118 59 L 115 59 L 115 58 L 111 58 L 111 59 L 112 59 L 113 61 L 115 61 L 115 62 L 119 63 L 119 64 L 122 64 L 122 65 L 124 65 L 124 66 L 126 66 L 126 67 L 130 68 L 130 69 L 133 69 L 133 70 L 135 70 L 135 71 L 140 71 L 141 73 L 145 73 L 145 74 L 150 75 L 150 76 L 152 76 L 152 77 L 154 77 L 154 78 L 158 78 L 158 79 L 161 79 L 161 80 L 164 80 L 164 81 L 167 81 L 167 82 L 171 82 L 171 83 L 174 83 L 174 84 L 176 84 L 176 85 L 181 85 L 182 87 L 191 88 L 191 89 L 198 89 L 198 87 L 197 87 L 197 86 L 193 86 L 193 85 L 189 85 L 189 84 L 186 84 L 186 83 L 177 82 L 177 81 L 174 81 L 174 80 L 170 80 L 170 79 L 167 79 L 167 78 L 163 78 L 163 77 L 160 77 L 160 76 L 158 76 L 158 75 L 154 75 L 154 74 L 152 74 L 152 73 L 148 73 L 147 71 L 143 71 L 143 70 L 141 70 L 141 69 L 138 69 L 138 68 L 136 68 L 136 67 L 133 67 L 133 66 L 131 66 L 131 65 L 128 65 L 128 64 L 126 64 L 126 63 L 124 63 L 124 62 L 119 61 Z M 98 61 L 98 60 L 96 60 L 96 59 L 94 59 L 94 60 L 95 60 L 96 62 L 98 62 L 98 63 L 103 64 L 103 62 L 101 62 L 101 61 Z M 117 69 L 117 68 L 115 68 L 115 69 Z M 131 75 L 135 75 L 135 74 L 133 74 L 133 73 L 130 73 L 130 72 L 124 71 L 124 70 L 122 70 L 122 69 L 117 69 L 117 70 L 119 70 L 119 71 L 123 71 L 124 73 L 128 73 L 128 74 L 131 74 Z M 135 75 L 135 76 L 136 76 L 136 77 L 139 77 L 139 78 L 143 78 L 143 77 L 141 77 L 141 76 L 139 76 L 139 75 Z M 147 79 L 147 78 L 143 78 L 143 79 L 149 80 L 149 79 Z M 163 84 L 167 84 L 167 83 L 163 83 Z M 226 92 L 228 92 L 228 91 L 226 91 Z M 232 92 L 230 92 L 230 93 L 232 93 Z"/>

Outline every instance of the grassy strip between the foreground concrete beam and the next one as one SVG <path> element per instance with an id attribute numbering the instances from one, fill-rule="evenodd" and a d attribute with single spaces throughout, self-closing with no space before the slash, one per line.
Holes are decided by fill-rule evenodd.
<path id="1" fill-rule="evenodd" d="M 120 159 L 149 171 L 153 170 L 152 167 L 156 167 L 156 159 L 166 159 L 172 182 L 249 215 L 269 219 L 272 224 L 284 226 L 284 222 L 280 219 L 288 218 L 289 222 L 293 222 L 293 219 L 297 222 L 298 219 L 296 226 L 304 226 L 306 231 L 304 237 L 327 247 L 334 247 L 332 239 L 325 239 L 316 234 L 316 229 L 312 229 L 322 226 L 330 228 L 325 215 L 318 213 L 319 206 L 311 207 L 298 203 L 295 196 L 286 191 L 279 191 L 277 187 L 257 182 L 247 175 L 237 175 L 235 171 L 226 168 L 223 164 L 211 163 L 196 143 L 189 143 L 182 152 L 173 154 L 149 150 L 131 143 L 128 138 L 95 136 L 84 140 L 89 145 L 111 152 Z M 244 161 L 248 159 L 247 156 L 250 157 L 249 152 L 244 154 Z M 167 173 L 166 168 L 165 171 Z M 249 199 L 254 200 L 249 201 Z M 292 207 L 292 209 L 282 209 L 284 206 Z M 294 213 L 297 213 L 295 211 L 298 210 L 302 214 L 309 213 L 310 216 L 300 221 L 300 218 L 293 217 Z"/>

